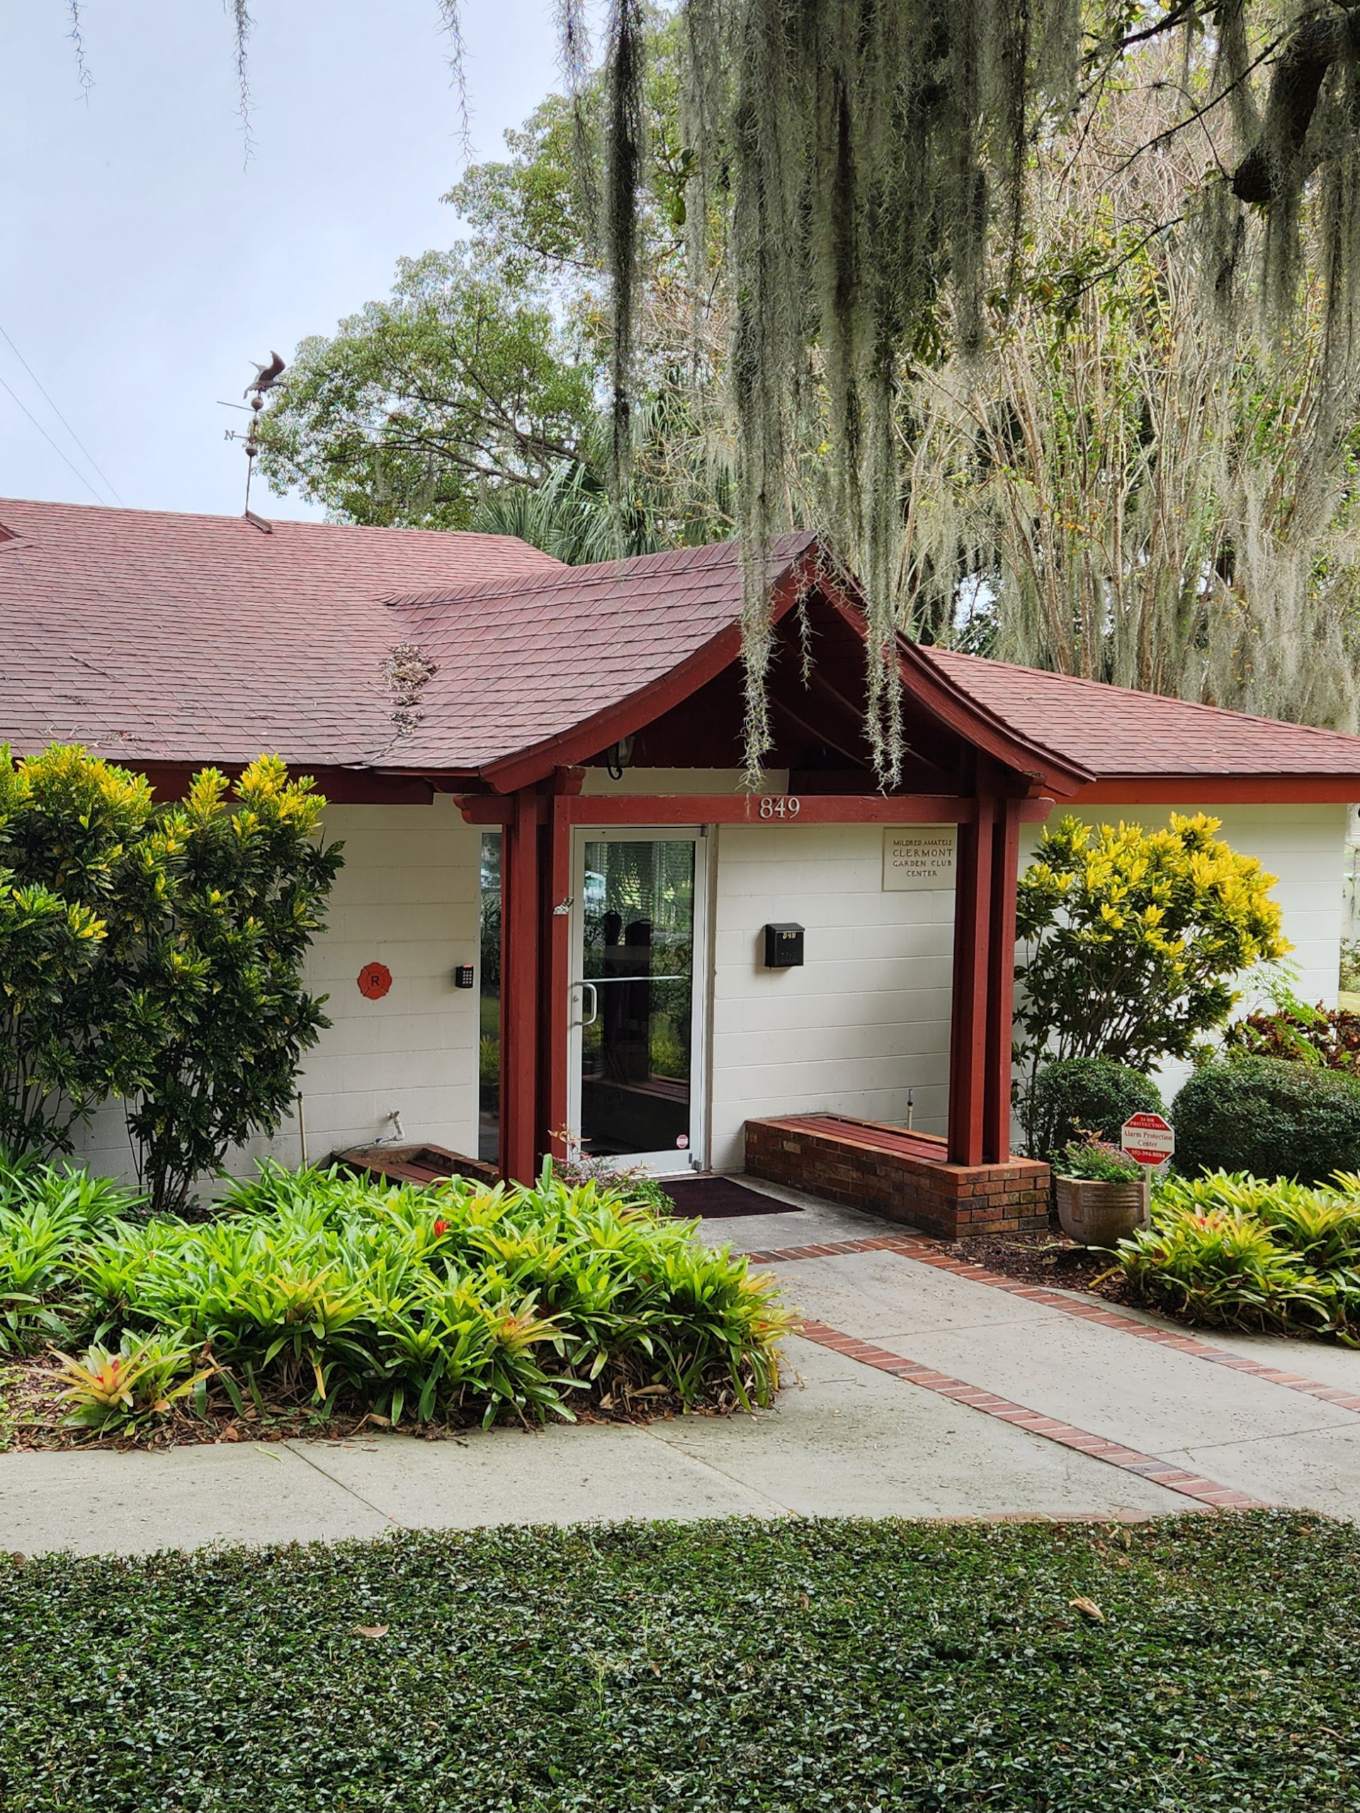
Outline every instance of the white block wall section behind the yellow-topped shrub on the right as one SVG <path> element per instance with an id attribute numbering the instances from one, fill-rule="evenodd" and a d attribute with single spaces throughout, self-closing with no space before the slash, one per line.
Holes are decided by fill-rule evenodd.
<path id="1" fill-rule="evenodd" d="M 1295 946 L 1286 957 L 1300 972 L 1295 984 L 1300 999 L 1336 1006 L 1336 981 L 1342 937 L 1342 872 L 1345 859 L 1345 805 L 1092 805 L 1061 807 L 1050 825 L 1068 814 L 1088 825 L 1144 825 L 1148 830 L 1170 823 L 1171 812 L 1193 816 L 1208 812 L 1220 819 L 1217 832 L 1231 848 L 1255 856 L 1268 874 L 1277 877 L 1271 890 L 1284 912 L 1284 936 Z M 1025 868 L 1039 841 L 1039 825 L 1021 827 L 1021 861 Z M 1242 1001 L 1233 1010 L 1248 1013 L 1258 1001 L 1251 975 L 1242 977 Z M 1168 1064 L 1157 1075 L 1164 1099 L 1170 1102 L 1190 1066 Z"/>

